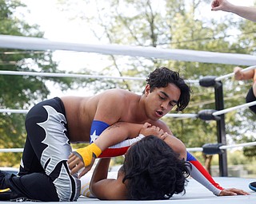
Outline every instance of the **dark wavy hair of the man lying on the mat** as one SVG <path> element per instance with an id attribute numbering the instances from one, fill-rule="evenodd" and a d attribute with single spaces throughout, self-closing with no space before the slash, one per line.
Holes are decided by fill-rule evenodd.
<path id="1" fill-rule="evenodd" d="M 128 199 L 159 200 L 185 194 L 189 167 L 162 139 L 146 136 L 126 153 L 122 182 L 127 180 Z"/>

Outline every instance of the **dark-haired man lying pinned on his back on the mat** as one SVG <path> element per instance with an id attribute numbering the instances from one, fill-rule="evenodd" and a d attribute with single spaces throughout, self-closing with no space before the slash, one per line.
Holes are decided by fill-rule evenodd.
<path id="1" fill-rule="evenodd" d="M 82 191 L 104 200 L 158 200 L 184 191 L 190 163 L 180 159 L 162 139 L 147 136 L 131 146 L 115 177 L 108 176 L 110 158 L 100 159 L 89 186 Z M 86 176 L 86 175 L 85 175 Z"/>

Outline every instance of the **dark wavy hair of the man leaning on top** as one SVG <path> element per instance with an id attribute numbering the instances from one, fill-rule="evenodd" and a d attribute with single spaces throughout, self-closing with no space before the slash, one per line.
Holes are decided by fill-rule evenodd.
<path id="1" fill-rule="evenodd" d="M 168 84 L 175 84 L 181 90 L 181 96 L 178 99 L 176 111 L 182 111 L 190 102 L 190 87 L 177 72 L 166 67 L 157 68 L 146 78 L 146 82 L 150 85 L 150 92 L 152 92 L 154 88 L 162 88 L 166 87 Z"/>

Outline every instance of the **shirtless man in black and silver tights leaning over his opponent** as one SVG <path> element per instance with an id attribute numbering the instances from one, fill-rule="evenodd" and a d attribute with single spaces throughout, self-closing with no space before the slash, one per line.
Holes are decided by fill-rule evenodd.
<path id="1" fill-rule="evenodd" d="M 110 125 L 147 122 L 171 135 L 170 128 L 160 119 L 174 106 L 177 111 L 186 108 L 190 88 L 178 73 L 167 68 L 155 69 L 146 81 L 142 95 L 111 89 L 96 96 L 66 96 L 35 105 L 26 116 L 27 139 L 19 177 L 0 175 L 0 188 L 9 187 L 11 198 L 74 201 L 78 199 L 81 187 L 76 172 L 86 167 L 82 176 L 90 170 L 94 158 L 122 155 L 127 149 L 119 148 L 122 144 L 118 149 L 106 149 L 127 138 L 122 132 L 102 136 L 102 131 Z M 70 143 L 87 143 L 89 140 L 89 146 L 78 149 L 68 160 Z M 126 141 L 123 143 L 127 146 Z M 193 165 L 190 175 L 214 194 L 245 194 L 242 190 L 223 190 L 218 186 L 176 137 L 171 136 L 168 143 L 182 158 L 187 155 Z"/>

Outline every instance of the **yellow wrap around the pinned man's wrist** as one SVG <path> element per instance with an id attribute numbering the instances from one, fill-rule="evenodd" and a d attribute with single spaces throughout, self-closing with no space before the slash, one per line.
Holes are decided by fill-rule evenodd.
<path id="1" fill-rule="evenodd" d="M 77 149 L 76 152 L 82 157 L 85 167 L 90 165 L 94 155 L 98 158 L 98 156 L 102 154 L 102 150 L 95 143 L 91 143 L 87 147 Z"/>

